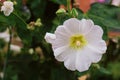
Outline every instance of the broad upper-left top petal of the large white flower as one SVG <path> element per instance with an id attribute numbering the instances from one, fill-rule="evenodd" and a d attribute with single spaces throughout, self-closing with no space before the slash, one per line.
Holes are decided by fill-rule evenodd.
<path id="1" fill-rule="evenodd" d="M 80 33 L 80 21 L 76 18 L 66 20 L 63 25 L 74 34 Z"/>

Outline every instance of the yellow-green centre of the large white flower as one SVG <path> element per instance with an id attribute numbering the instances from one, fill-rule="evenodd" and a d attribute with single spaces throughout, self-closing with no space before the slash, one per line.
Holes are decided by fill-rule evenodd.
<path id="1" fill-rule="evenodd" d="M 85 37 L 81 34 L 76 34 L 70 38 L 70 47 L 73 49 L 81 49 L 87 44 Z"/>

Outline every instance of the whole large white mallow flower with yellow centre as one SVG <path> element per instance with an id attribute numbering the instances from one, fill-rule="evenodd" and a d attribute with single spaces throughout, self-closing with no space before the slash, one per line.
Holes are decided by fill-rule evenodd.
<path id="1" fill-rule="evenodd" d="M 45 39 L 52 44 L 58 61 L 64 61 L 69 70 L 82 72 L 88 70 L 91 63 L 100 61 L 106 52 L 102 35 L 102 28 L 92 20 L 71 18 L 58 26 L 55 34 L 47 33 Z"/>

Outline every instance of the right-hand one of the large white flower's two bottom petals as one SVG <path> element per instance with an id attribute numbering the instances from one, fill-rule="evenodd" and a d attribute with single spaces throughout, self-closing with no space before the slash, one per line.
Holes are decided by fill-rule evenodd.
<path id="1" fill-rule="evenodd" d="M 80 72 L 88 70 L 91 65 L 91 60 L 85 54 L 84 50 L 77 53 L 76 69 Z"/>

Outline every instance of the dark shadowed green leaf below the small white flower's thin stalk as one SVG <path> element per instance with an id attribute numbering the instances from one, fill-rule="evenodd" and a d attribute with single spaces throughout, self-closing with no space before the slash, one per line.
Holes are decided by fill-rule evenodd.
<path id="1" fill-rule="evenodd" d="M 23 43 L 29 44 L 32 41 L 32 34 L 27 29 L 27 24 L 24 22 L 24 20 L 19 17 L 16 13 L 13 13 L 16 20 L 16 29 L 18 36 L 22 39 Z"/>

